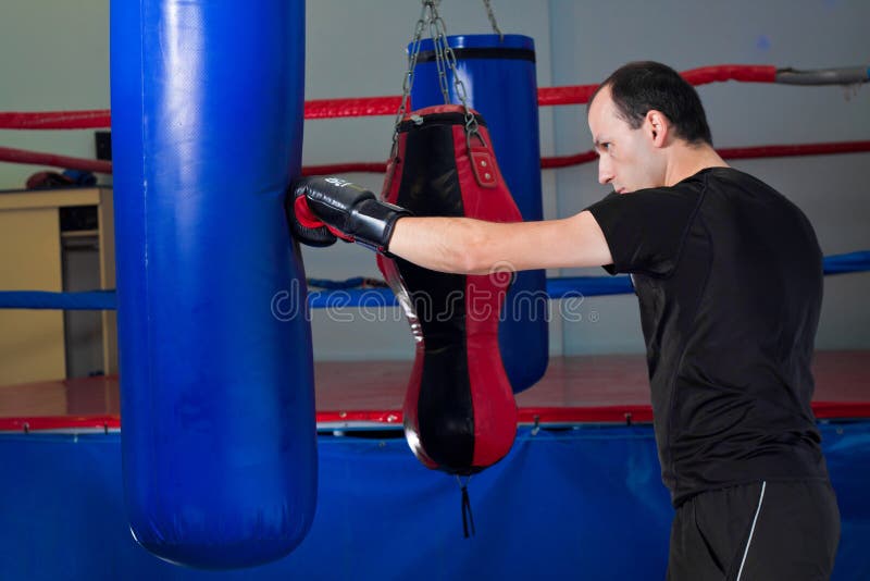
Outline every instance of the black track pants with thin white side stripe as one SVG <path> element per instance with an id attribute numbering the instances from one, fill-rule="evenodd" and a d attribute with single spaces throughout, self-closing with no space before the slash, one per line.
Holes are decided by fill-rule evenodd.
<path id="1" fill-rule="evenodd" d="M 840 510 L 828 481 L 765 481 L 693 496 L 671 528 L 669 581 L 830 579 Z"/>

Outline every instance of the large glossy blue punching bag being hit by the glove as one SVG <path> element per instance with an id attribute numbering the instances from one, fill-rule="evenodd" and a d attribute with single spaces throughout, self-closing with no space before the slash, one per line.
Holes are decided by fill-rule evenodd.
<path id="1" fill-rule="evenodd" d="M 173 563 L 273 560 L 313 519 L 303 67 L 303 0 L 112 0 L 124 493 Z"/>

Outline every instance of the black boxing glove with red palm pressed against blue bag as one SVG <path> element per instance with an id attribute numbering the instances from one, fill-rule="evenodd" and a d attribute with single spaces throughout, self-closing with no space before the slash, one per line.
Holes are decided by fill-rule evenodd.
<path id="1" fill-rule="evenodd" d="M 412 215 L 405 208 L 340 177 L 303 177 L 293 184 L 295 218 L 304 227 L 325 225 L 333 234 L 389 255 L 396 221 Z M 299 200 L 304 199 L 304 208 Z M 311 214 L 314 220 L 311 221 Z"/>

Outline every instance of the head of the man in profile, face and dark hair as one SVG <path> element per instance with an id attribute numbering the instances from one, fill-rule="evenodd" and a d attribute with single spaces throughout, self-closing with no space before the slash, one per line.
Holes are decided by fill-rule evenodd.
<path id="1" fill-rule="evenodd" d="M 678 150 L 712 146 L 695 88 L 656 62 L 629 63 L 611 74 L 589 100 L 587 120 L 598 181 L 620 194 L 666 185 Z"/>

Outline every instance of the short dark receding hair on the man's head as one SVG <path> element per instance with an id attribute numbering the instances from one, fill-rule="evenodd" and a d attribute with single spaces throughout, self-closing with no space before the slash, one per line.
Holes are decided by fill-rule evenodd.
<path id="1" fill-rule="evenodd" d="M 664 113 L 678 137 L 689 144 L 713 144 L 698 92 L 670 66 L 654 61 L 620 66 L 598 86 L 589 103 L 605 87 L 610 87 L 617 111 L 633 129 L 655 109 Z"/>

